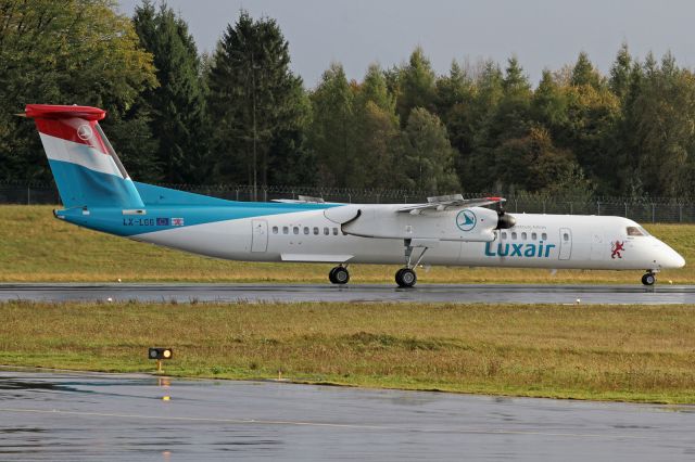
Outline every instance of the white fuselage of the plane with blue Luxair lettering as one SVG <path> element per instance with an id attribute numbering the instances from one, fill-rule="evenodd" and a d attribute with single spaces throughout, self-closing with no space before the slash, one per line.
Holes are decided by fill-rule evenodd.
<path id="1" fill-rule="evenodd" d="M 489 209 L 484 209 L 488 210 Z M 428 239 L 414 244 L 422 264 L 549 269 L 661 270 L 683 258 L 627 218 L 514 214 L 516 224 L 490 242 Z M 634 227 L 645 235 L 629 235 Z M 403 239 L 351 235 L 324 210 L 306 210 L 137 234 L 135 240 L 243 261 L 402 265 Z M 417 240 L 416 240 L 417 241 Z M 616 252 L 617 251 L 617 252 Z"/>

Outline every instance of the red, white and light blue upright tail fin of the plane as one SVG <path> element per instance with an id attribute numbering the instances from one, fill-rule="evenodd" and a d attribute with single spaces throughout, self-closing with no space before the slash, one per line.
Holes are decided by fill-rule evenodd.
<path id="1" fill-rule="evenodd" d="M 89 106 L 28 104 L 65 207 L 143 207 L 99 126 L 106 112 Z"/>

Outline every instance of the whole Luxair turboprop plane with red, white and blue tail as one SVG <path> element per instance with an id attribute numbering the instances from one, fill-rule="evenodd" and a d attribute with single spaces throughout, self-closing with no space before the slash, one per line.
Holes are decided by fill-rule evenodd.
<path id="1" fill-rule="evenodd" d="M 502 197 L 429 197 L 425 204 L 321 200 L 233 202 L 132 181 L 99 126 L 97 107 L 29 104 L 65 207 L 55 217 L 97 231 L 245 261 L 403 264 L 412 287 L 420 264 L 644 270 L 681 268 L 671 247 L 627 218 L 506 213 Z M 495 209 L 485 205 L 496 206 Z"/>

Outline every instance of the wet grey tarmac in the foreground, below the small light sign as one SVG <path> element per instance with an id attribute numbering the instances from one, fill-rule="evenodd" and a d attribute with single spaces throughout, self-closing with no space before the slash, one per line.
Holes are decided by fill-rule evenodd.
<path id="1" fill-rule="evenodd" d="M 685 406 L 0 370 L 3 461 L 677 461 L 693 435 Z"/>

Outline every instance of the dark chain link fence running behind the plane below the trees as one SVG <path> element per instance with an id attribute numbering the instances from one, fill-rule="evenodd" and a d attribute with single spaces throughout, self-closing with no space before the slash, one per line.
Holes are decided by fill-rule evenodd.
<path id="1" fill-rule="evenodd" d="M 271 201 L 299 198 L 300 195 L 321 197 L 326 202 L 357 204 L 393 204 L 426 202 L 421 191 L 320 188 L 160 184 L 230 201 Z M 464 193 L 464 197 L 502 195 L 506 209 L 516 214 L 615 215 L 639 222 L 695 223 L 695 198 L 691 197 L 558 197 L 545 194 L 507 194 L 501 192 Z M 0 204 L 60 204 L 54 184 L 0 183 Z"/>

